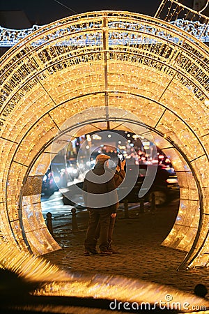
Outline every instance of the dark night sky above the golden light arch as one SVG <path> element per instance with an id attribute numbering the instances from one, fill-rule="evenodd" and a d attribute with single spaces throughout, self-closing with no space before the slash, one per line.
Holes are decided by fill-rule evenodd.
<path id="1" fill-rule="evenodd" d="M 42 25 L 54 22 L 63 17 L 94 10 L 127 10 L 153 16 L 161 1 L 162 0 L 0 0 L 0 11 L 23 10 L 31 21 L 31 24 Z M 179 2 L 192 8 L 193 0 L 179 0 Z"/>

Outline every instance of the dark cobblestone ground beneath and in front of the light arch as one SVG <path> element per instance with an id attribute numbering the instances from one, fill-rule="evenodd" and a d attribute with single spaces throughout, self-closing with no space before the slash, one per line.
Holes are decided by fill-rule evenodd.
<path id="1" fill-rule="evenodd" d="M 54 238 L 62 250 L 45 255 L 47 260 L 61 269 L 85 275 L 107 274 L 151 281 L 193 293 L 197 283 L 203 283 L 209 291 L 208 269 L 177 271 L 185 252 L 161 245 L 176 219 L 178 201 L 168 207 L 148 209 L 140 214 L 139 208 L 129 211 L 124 218 L 123 208 L 118 211 L 114 229 L 114 247 L 120 252 L 110 256 L 84 256 L 84 237 L 88 224 L 88 212 L 77 214 L 79 230 L 72 232 L 70 225 L 56 227 Z M 207 295 L 208 297 L 208 295 Z"/>

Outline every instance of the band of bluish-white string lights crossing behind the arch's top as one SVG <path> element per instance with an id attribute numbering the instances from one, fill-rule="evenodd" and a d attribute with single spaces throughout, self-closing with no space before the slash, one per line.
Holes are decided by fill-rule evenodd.
<path id="1" fill-rule="evenodd" d="M 59 24 L 59 23 L 58 23 Z M 171 22 L 170 24 L 176 25 L 176 27 L 180 28 L 183 31 L 186 31 L 190 35 L 195 36 L 198 40 L 202 42 L 209 43 L 209 25 L 201 24 L 199 21 L 191 22 L 185 20 L 176 20 Z M 13 47 L 20 43 L 20 40 L 26 38 L 34 31 L 38 29 L 47 29 L 47 25 L 38 26 L 33 25 L 30 29 L 6 29 L 5 27 L 0 27 L 0 47 Z M 98 27 L 98 33 L 85 33 L 81 34 L 79 32 L 83 32 L 85 29 L 94 29 Z M 160 33 L 155 29 L 155 27 L 150 27 L 148 25 L 140 24 L 140 23 L 129 23 L 129 22 L 109 22 L 109 45 L 141 45 L 141 44 L 155 44 L 160 43 L 160 38 L 164 38 L 166 40 L 170 40 L 173 43 L 179 43 L 178 37 L 171 37 L 168 35 L 166 31 L 161 31 Z M 124 32 L 121 30 L 124 29 Z M 130 33 L 131 31 L 139 31 L 140 34 Z M 62 40 L 62 36 L 67 35 L 68 33 L 79 33 L 78 36 L 74 38 L 69 38 L 69 40 Z M 144 36 L 142 34 L 144 33 Z M 146 37 L 147 35 L 150 38 Z M 75 46 L 102 46 L 102 29 L 100 28 L 100 24 L 90 23 L 86 25 L 86 27 L 75 27 L 74 25 L 66 28 L 59 29 L 54 31 L 52 29 L 52 33 L 46 36 L 46 38 L 42 38 L 42 40 L 36 41 L 34 38 L 34 42 L 31 44 L 34 47 L 37 45 L 43 45 L 47 43 L 49 40 L 59 39 L 61 38 L 60 43 L 56 43 L 55 45 L 75 45 Z M 157 39 L 158 38 L 158 39 Z"/>

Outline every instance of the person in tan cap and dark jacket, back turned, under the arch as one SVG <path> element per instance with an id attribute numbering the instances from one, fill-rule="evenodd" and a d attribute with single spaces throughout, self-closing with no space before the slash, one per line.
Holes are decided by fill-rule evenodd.
<path id="1" fill-rule="evenodd" d="M 110 218 L 116 217 L 118 197 L 114 174 L 108 168 L 109 156 L 96 157 L 95 167 L 87 172 L 84 179 L 84 202 L 89 211 L 88 229 L 84 241 L 84 255 L 97 254 L 95 230 L 100 220 L 100 254 L 110 255 L 108 232 Z"/>

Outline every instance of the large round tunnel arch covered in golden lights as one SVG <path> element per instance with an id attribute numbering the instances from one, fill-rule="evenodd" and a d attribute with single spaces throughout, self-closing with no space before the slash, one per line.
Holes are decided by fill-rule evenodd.
<path id="1" fill-rule="evenodd" d="M 40 203 L 52 154 L 107 121 L 138 134 L 143 122 L 180 184 L 163 245 L 188 252 L 180 268 L 207 266 L 208 72 L 206 45 L 137 13 L 75 15 L 10 49 L 0 68 L 1 246 L 35 255 L 59 249 Z"/>

